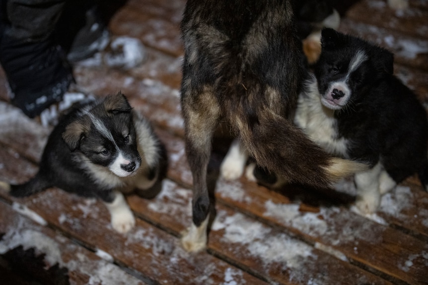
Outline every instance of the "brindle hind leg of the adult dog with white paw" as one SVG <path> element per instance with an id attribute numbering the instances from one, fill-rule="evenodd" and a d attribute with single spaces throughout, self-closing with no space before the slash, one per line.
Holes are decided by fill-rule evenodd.
<path id="1" fill-rule="evenodd" d="M 199 251 L 207 244 L 210 198 L 207 189 L 207 166 L 211 140 L 220 115 L 212 92 L 182 93 L 185 121 L 186 154 L 193 174 L 193 224 L 182 237 L 187 251 Z"/>

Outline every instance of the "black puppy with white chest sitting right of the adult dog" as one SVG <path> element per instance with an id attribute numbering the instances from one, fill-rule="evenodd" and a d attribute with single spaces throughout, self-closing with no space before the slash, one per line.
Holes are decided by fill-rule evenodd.
<path id="1" fill-rule="evenodd" d="M 329 153 L 370 165 L 355 175 L 361 212 L 374 212 L 381 194 L 414 173 L 427 189 L 427 113 L 393 75 L 393 55 L 333 29 L 321 42 L 295 123 Z"/>

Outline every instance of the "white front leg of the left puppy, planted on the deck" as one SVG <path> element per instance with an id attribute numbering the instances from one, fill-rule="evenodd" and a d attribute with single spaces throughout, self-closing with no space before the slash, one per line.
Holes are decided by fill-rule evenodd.
<path id="1" fill-rule="evenodd" d="M 113 191 L 112 196 L 111 202 L 107 202 L 110 199 L 103 199 L 110 212 L 111 225 L 118 232 L 126 233 L 135 226 L 134 214 L 121 192 Z"/>

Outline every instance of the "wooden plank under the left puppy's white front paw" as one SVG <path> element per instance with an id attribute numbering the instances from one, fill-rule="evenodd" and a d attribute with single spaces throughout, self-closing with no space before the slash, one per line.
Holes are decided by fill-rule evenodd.
<path id="1" fill-rule="evenodd" d="M 15 173 L 19 175 L 18 169 Z M 60 189 L 14 199 L 1 187 L 0 197 L 30 209 L 50 227 L 60 229 L 94 251 L 108 253 L 116 263 L 159 284 L 265 284 L 208 253 L 185 252 L 177 237 L 139 219 L 136 228 L 126 235 L 119 234 L 111 227 L 105 206 L 95 199 L 83 199 Z"/>

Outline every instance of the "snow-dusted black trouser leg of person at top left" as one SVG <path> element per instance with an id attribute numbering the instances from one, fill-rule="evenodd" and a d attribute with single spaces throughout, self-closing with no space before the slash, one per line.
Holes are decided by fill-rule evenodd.
<path id="1" fill-rule="evenodd" d="M 61 101 L 72 78 L 54 32 L 66 0 L 0 0 L 0 63 L 29 117 Z"/>

